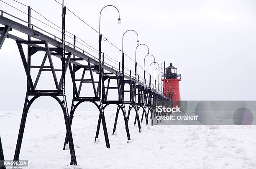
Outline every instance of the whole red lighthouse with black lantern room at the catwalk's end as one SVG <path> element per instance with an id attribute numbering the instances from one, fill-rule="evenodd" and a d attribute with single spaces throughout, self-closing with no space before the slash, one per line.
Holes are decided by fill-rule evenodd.
<path id="1" fill-rule="evenodd" d="M 179 81 L 181 81 L 181 75 L 177 74 L 177 68 L 172 66 L 172 63 L 165 68 L 165 76 L 162 81 L 164 82 L 164 95 L 172 98 L 173 101 L 180 101 Z"/>

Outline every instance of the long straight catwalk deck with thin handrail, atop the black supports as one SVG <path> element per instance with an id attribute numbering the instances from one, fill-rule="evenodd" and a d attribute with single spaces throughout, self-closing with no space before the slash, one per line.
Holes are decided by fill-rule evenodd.
<path id="1" fill-rule="evenodd" d="M 0 10 L 0 11 L 1 11 L 1 13 L 4 12 L 3 10 Z M 9 15 L 10 15 L 10 14 L 9 14 Z M 13 16 L 13 15 L 11 15 L 11 16 Z M 15 16 L 13 16 L 13 17 L 16 18 L 16 19 L 18 19 L 18 18 L 15 17 Z M 19 20 L 20 20 L 20 19 L 19 19 Z M 24 20 L 22 20 L 22 21 L 24 21 Z M 26 21 L 25 21 L 25 22 L 26 22 Z M 21 32 L 21 33 L 24 33 L 24 34 L 27 34 L 27 35 L 30 35 L 30 36 L 32 36 L 33 38 L 37 38 L 37 39 L 39 39 L 39 40 L 44 40 L 44 41 L 46 41 L 47 43 L 49 43 L 49 44 L 51 44 L 51 45 L 54 45 L 54 46 L 56 46 L 56 47 L 59 47 L 59 48 L 62 47 L 62 43 L 59 42 L 58 40 L 56 40 L 56 39 L 54 39 L 54 38 L 51 38 L 51 37 L 49 37 L 48 35 L 45 35 L 45 34 L 39 32 L 39 31 L 37 31 L 37 30 L 34 30 L 34 29 L 32 29 L 32 28 L 29 28 L 28 26 L 23 25 L 23 24 L 21 24 L 21 23 L 18 23 L 18 22 L 14 21 L 14 20 L 11 20 L 11 19 L 9 19 L 9 18 L 5 18 L 3 15 L 0 15 L 0 24 L 10 26 L 10 27 L 13 28 L 14 30 L 17 30 L 17 31 L 19 31 L 19 32 Z M 40 29 L 40 30 L 42 30 L 42 29 Z M 48 32 L 46 32 L 46 33 L 48 33 Z M 56 36 L 54 36 L 54 37 L 56 37 Z M 89 55 L 90 55 L 89 53 L 88 53 L 89 55 L 86 55 L 85 53 L 82 53 L 82 52 L 80 52 L 80 51 L 78 51 L 78 50 L 76 50 L 76 49 L 70 47 L 69 45 L 66 45 L 66 44 L 65 44 L 65 46 L 66 46 L 66 51 L 67 51 L 67 52 L 71 52 L 73 55 L 75 55 L 75 56 L 77 56 L 77 57 L 79 57 L 79 58 L 82 58 L 84 61 L 90 61 L 90 63 L 92 63 L 92 64 L 94 64 L 94 65 L 99 65 L 99 62 L 96 61 L 96 59 L 91 58 L 91 57 L 89 56 Z M 81 49 L 80 49 L 80 50 L 81 50 Z M 82 51 L 84 51 L 84 50 L 82 50 Z M 84 52 L 85 52 L 85 51 L 84 51 Z M 73 64 L 76 64 L 76 63 L 74 63 L 74 62 L 72 62 L 72 63 L 73 63 Z M 119 70 L 115 70 L 115 69 L 113 68 L 113 66 L 111 66 L 111 67 L 107 66 L 105 63 L 102 64 L 102 68 L 103 68 L 104 70 L 106 70 L 106 71 L 109 71 L 109 72 L 111 72 L 111 73 L 114 73 L 115 75 L 118 75 L 118 76 L 122 76 L 122 75 L 123 75 L 122 72 L 119 72 Z M 129 80 L 134 81 L 134 82 L 136 81 L 134 78 L 130 77 L 130 75 L 127 74 L 127 73 L 125 73 L 124 78 L 125 78 L 125 79 L 129 79 Z M 144 86 L 144 84 L 143 84 L 142 82 L 140 82 L 140 81 L 137 81 L 137 84 L 138 84 L 138 85 L 141 85 L 141 86 Z M 145 86 L 145 88 L 149 89 L 147 86 Z M 152 88 L 151 88 L 151 90 L 154 91 Z M 158 93 L 157 91 L 155 91 L 155 92 Z M 161 96 L 164 96 L 164 95 L 161 95 Z M 164 97 L 165 97 L 165 96 L 164 96 Z M 166 98 L 166 97 L 165 97 L 165 98 Z"/>

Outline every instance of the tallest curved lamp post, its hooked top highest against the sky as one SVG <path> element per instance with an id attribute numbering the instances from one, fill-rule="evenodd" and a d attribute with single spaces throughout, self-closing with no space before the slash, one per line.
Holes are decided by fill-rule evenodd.
<path id="1" fill-rule="evenodd" d="M 114 7 L 117 11 L 118 11 L 118 24 L 121 23 L 121 20 L 120 20 L 120 13 L 119 13 L 119 10 L 118 8 L 116 8 L 115 6 L 113 5 L 106 5 L 105 7 L 103 7 L 101 10 L 100 10 L 100 18 L 101 18 L 101 12 L 104 8 L 108 7 L 108 6 L 111 6 L 111 7 Z M 100 101 L 101 101 L 101 74 L 102 74 L 102 68 L 101 68 L 101 40 L 102 40 L 102 35 L 100 34 L 100 22 L 99 22 L 99 97 L 100 97 Z"/>

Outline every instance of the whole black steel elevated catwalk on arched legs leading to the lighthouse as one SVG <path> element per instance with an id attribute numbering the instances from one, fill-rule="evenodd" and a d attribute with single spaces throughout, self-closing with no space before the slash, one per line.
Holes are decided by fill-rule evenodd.
<path id="1" fill-rule="evenodd" d="M 2 15 L 0 15 L 0 24 L 4 25 L 4 27 L 0 27 L 0 33 L 1 33 L 0 48 L 2 47 L 5 38 L 10 38 L 15 40 L 18 46 L 20 57 L 22 59 L 22 63 L 25 69 L 26 77 L 27 77 L 27 92 L 26 92 L 25 103 L 23 107 L 23 114 L 20 122 L 17 145 L 15 149 L 15 155 L 14 155 L 15 161 L 19 160 L 20 147 L 23 139 L 23 133 L 25 129 L 28 110 L 31 104 L 33 103 L 33 101 L 35 101 L 38 97 L 50 96 L 54 98 L 61 106 L 61 109 L 64 114 L 64 122 L 66 126 L 66 131 L 67 131 L 66 139 L 64 143 L 64 149 L 67 149 L 67 144 L 69 144 L 68 147 L 69 147 L 70 156 L 71 156 L 70 164 L 73 164 L 73 165 L 77 164 L 77 160 L 75 156 L 74 143 L 72 139 L 71 124 L 72 124 L 74 112 L 77 106 L 79 106 L 79 104 L 83 102 L 91 102 L 95 104 L 95 106 L 98 108 L 99 119 L 98 119 L 98 124 L 96 129 L 95 141 L 99 136 L 100 125 L 102 123 L 106 147 L 110 148 L 108 131 L 107 131 L 107 126 L 105 122 L 105 114 L 104 114 L 104 110 L 107 106 L 112 104 L 117 105 L 113 134 L 115 133 L 119 111 L 122 111 L 124 124 L 125 124 L 125 131 L 127 134 L 127 139 L 129 141 L 131 138 L 130 138 L 130 133 L 128 128 L 128 120 L 129 120 L 129 116 L 132 109 L 134 109 L 136 112 L 134 125 L 138 123 L 138 129 L 140 132 L 141 124 L 140 124 L 139 113 L 138 113 L 140 109 L 142 110 L 143 112 L 142 115 L 145 116 L 146 124 L 148 125 L 149 112 L 152 115 L 152 112 L 154 111 L 153 108 L 151 108 L 152 101 L 157 104 L 161 104 L 161 101 L 170 101 L 170 102 L 172 101 L 172 99 L 169 99 L 171 98 L 170 94 L 169 94 L 169 97 L 166 97 L 166 95 L 164 96 L 162 93 L 154 90 L 153 88 L 150 88 L 149 86 L 146 86 L 144 83 L 141 83 L 140 81 L 137 81 L 135 78 L 131 76 L 131 73 L 130 75 L 125 74 L 124 65 L 122 65 L 122 70 L 120 70 L 120 66 L 119 66 L 119 69 L 116 69 L 104 63 L 104 53 L 101 53 L 100 58 L 97 60 L 85 54 L 86 52 L 79 51 L 79 49 L 77 49 L 75 46 L 75 43 L 76 43 L 75 36 L 74 36 L 74 44 L 72 45 L 72 47 L 69 45 L 66 45 L 65 43 L 65 7 L 63 8 L 63 15 L 62 15 L 63 29 L 62 29 L 61 42 L 59 40 L 56 40 L 55 37 L 51 38 L 50 36 L 42 32 L 34 30 L 33 26 L 31 28 L 30 9 L 28 10 L 28 13 L 29 13 L 28 22 L 27 22 L 28 25 L 23 25 L 21 23 L 16 22 L 15 20 L 6 18 L 3 16 L 3 13 L 9 16 L 12 16 L 12 15 L 5 13 L 4 11 L 1 11 L 1 12 L 2 12 Z M 12 16 L 12 17 L 18 19 L 15 16 Z M 18 36 L 12 35 L 10 33 L 10 31 L 12 30 L 16 30 L 20 33 L 24 33 L 28 35 L 28 39 L 25 40 Z M 31 38 L 34 38 L 36 40 L 31 40 Z M 28 45 L 27 57 L 24 54 L 24 48 L 22 44 Z M 54 47 L 49 47 L 49 45 L 52 45 Z M 33 57 L 33 55 L 35 53 L 38 53 L 39 51 L 43 51 L 45 53 L 44 55 L 42 55 L 43 60 L 41 65 L 40 66 L 31 65 L 31 57 Z M 62 65 L 61 69 L 54 68 L 54 61 L 52 60 L 52 57 L 57 57 L 60 59 L 59 63 L 61 63 Z M 101 57 L 102 57 L 102 60 L 101 60 Z M 124 53 L 123 53 L 123 57 L 124 57 Z M 49 66 L 45 66 L 46 60 L 49 61 Z M 86 64 L 80 63 L 79 61 L 86 61 Z M 39 68 L 38 74 L 34 81 L 31 78 L 31 69 L 33 68 Z M 73 99 L 72 99 L 70 114 L 68 112 L 68 105 L 67 105 L 66 94 L 65 94 L 65 75 L 67 70 L 70 71 L 70 76 L 72 78 L 72 83 L 73 83 Z M 41 73 L 44 71 L 51 71 L 52 77 L 53 77 L 52 80 L 56 87 L 55 89 L 46 90 L 46 89 L 36 88 L 38 86 L 38 80 L 41 76 Z M 59 79 L 56 76 L 57 71 L 61 72 L 61 77 Z M 81 77 L 78 77 L 77 75 L 78 71 L 82 71 Z M 88 72 L 90 76 L 85 78 L 86 72 Z M 95 77 L 97 77 L 97 79 L 95 79 Z M 110 86 L 110 81 L 114 81 L 116 85 Z M 79 82 L 78 86 L 76 82 Z M 81 89 L 83 88 L 83 85 L 82 85 L 83 83 L 90 83 L 92 85 L 94 96 L 81 96 Z M 129 86 L 130 90 L 125 90 L 125 86 Z M 118 96 L 117 100 L 110 100 L 110 98 L 108 97 L 108 93 L 110 90 L 116 91 Z M 128 101 L 124 100 L 124 93 L 128 93 L 130 95 L 130 100 Z M 126 114 L 125 105 L 129 106 L 128 114 Z"/>

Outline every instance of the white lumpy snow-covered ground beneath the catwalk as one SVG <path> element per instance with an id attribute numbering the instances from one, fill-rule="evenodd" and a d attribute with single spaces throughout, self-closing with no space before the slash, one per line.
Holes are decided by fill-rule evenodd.
<path id="1" fill-rule="evenodd" d="M 158 125 L 142 132 L 129 129 L 127 143 L 122 114 L 112 136 L 115 111 L 105 112 L 110 147 L 105 146 L 102 128 L 95 144 L 97 112 L 74 114 L 72 133 L 77 166 L 69 166 L 70 154 L 63 151 L 63 113 L 32 109 L 28 113 L 20 160 L 24 169 L 256 169 L 256 126 Z M 20 112 L 0 112 L 0 134 L 6 160 L 13 159 L 20 125 Z M 211 128 L 211 129 L 210 129 Z"/>

